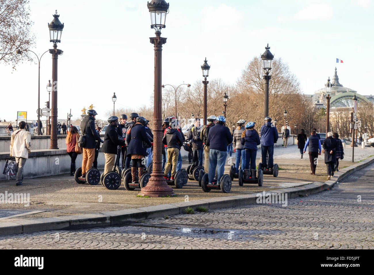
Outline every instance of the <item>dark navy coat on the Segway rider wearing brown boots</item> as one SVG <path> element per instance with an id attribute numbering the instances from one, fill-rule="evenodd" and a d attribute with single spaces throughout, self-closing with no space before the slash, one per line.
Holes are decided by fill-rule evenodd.
<path id="1" fill-rule="evenodd" d="M 129 144 L 127 155 L 139 154 L 146 156 L 147 144 L 152 146 L 145 133 L 145 127 L 141 123 L 135 123 L 130 132 L 126 134 L 126 142 Z"/>

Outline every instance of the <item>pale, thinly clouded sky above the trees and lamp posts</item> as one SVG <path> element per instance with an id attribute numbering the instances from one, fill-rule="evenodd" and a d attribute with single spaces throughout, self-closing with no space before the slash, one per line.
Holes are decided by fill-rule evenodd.
<path id="1" fill-rule="evenodd" d="M 340 83 L 359 94 L 374 94 L 373 0 L 221 1 L 170 0 L 162 51 L 162 83 L 193 84 L 203 80 L 204 58 L 209 79 L 235 84 L 254 56 L 269 43 L 276 58 L 288 63 L 301 92 L 324 87 L 337 67 Z M 71 109 L 77 119 L 93 104 L 98 119 L 116 108 L 150 106 L 154 88 L 154 50 L 149 37 L 147 1 L 30 0 L 33 50 L 39 56 L 52 48 L 47 23 L 57 9 L 64 23 L 58 58 L 58 118 Z M 30 53 L 31 56 L 34 54 Z M 343 63 L 336 63 L 336 58 Z M 37 62 L 37 59 L 35 58 Z M 15 120 L 16 111 L 37 117 L 38 65 L 0 63 L 0 119 Z M 48 100 L 52 59 L 40 62 L 40 106 Z"/>

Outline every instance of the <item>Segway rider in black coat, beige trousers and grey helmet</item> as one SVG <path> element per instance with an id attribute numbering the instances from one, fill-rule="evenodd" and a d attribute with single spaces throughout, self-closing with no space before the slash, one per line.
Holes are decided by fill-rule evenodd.
<path id="1" fill-rule="evenodd" d="M 109 125 L 105 130 L 104 144 L 102 144 L 101 152 L 105 156 L 104 175 L 111 171 L 114 162 L 116 161 L 117 146 L 125 145 L 124 140 L 118 138 L 117 126 L 118 117 L 111 116 L 108 118 Z"/>

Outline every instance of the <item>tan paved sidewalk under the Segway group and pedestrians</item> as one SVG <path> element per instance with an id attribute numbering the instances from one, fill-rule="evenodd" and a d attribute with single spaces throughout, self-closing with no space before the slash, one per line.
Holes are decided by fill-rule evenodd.
<path id="1" fill-rule="evenodd" d="M 350 149 L 350 150 L 349 150 Z M 352 148 L 346 148 L 345 158 L 340 162 L 340 168 L 349 166 L 352 162 Z M 260 153 L 256 163 L 260 162 Z M 1 209 L 22 209 L 22 210 L 39 210 L 45 211 L 38 214 L 32 214 L 22 217 L 13 217 L 10 219 L 0 220 L 0 223 L 24 220 L 38 217 L 57 217 L 75 214 L 99 213 L 103 211 L 123 210 L 128 208 L 145 207 L 160 204 L 169 204 L 174 202 L 183 202 L 198 199 L 217 198 L 223 196 L 243 195 L 258 193 L 267 190 L 280 189 L 282 187 L 299 186 L 315 181 L 324 182 L 327 179 L 326 166 L 323 163 L 323 155 L 319 156 L 319 164 L 317 166 L 317 174 L 310 175 L 309 158 L 300 159 L 297 146 L 288 146 L 287 148 L 275 148 L 275 162 L 279 164 L 281 170 L 278 178 L 271 175 L 264 175 L 264 183 L 262 187 L 255 184 L 245 184 L 240 187 L 237 179 L 232 183 L 230 193 L 221 193 L 212 190 L 205 193 L 199 187 L 197 181 L 188 181 L 187 186 L 182 189 L 174 189 L 178 195 L 173 198 L 139 198 L 137 194 L 139 190 L 126 191 L 123 186 L 117 190 L 107 190 L 101 184 L 90 186 L 88 184 L 77 184 L 73 177 L 69 175 L 57 175 L 51 177 L 26 179 L 24 186 L 15 186 L 15 181 L 1 181 L 0 193 L 30 193 L 30 206 L 24 207 L 23 204 L 0 204 Z M 355 148 L 355 160 L 360 161 L 370 155 L 374 155 L 374 148 Z M 233 158 L 227 159 L 226 172 L 228 172 L 229 164 L 235 162 L 235 154 Z M 184 161 L 183 166 L 188 164 Z M 99 201 L 102 199 L 102 201 Z"/>

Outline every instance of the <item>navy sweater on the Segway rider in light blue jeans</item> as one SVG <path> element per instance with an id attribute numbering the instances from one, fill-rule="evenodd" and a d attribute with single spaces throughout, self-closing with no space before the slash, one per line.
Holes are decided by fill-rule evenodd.
<path id="1" fill-rule="evenodd" d="M 226 126 L 217 123 L 215 126 L 210 128 L 208 134 L 208 140 L 206 145 L 209 149 L 216 149 L 218 151 L 227 151 L 227 145 L 233 142 L 233 136 L 231 135 L 230 129 Z"/>

